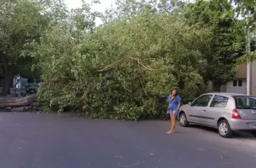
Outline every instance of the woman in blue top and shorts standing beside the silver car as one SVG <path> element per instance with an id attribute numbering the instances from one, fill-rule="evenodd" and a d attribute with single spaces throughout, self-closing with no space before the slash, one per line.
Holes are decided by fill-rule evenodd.
<path id="1" fill-rule="evenodd" d="M 167 113 L 171 116 L 171 130 L 167 133 L 175 133 L 175 121 L 178 116 L 178 108 L 181 106 L 181 97 L 178 96 L 176 89 L 171 90 L 171 95 L 168 96 L 167 102 L 169 103 Z"/>

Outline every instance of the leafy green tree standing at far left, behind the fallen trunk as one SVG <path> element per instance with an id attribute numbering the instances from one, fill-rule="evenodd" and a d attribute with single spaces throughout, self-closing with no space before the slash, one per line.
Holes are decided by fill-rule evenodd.
<path id="1" fill-rule="evenodd" d="M 2 95 L 6 96 L 15 74 L 40 80 L 40 69 L 33 67 L 31 44 L 40 43 L 48 26 L 65 23 L 67 12 L 61 0 L 0 0 L 0 77 L 5 83 Z"/>

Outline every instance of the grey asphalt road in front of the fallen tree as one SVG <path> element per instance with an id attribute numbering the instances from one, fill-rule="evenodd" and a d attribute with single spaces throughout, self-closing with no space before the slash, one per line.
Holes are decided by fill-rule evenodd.
<path id="1" fill-rule="evenodd" d="M 169 124 L 0 113 L 0 168 L 256 167 L 256 139 Z"/>

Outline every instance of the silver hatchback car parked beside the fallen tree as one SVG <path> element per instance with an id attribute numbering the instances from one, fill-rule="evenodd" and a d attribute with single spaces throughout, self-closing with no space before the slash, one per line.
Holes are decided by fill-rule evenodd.
<path id="1" fill-rule="evenodd" d="M 192 103 L 181 106 L 178 115 L 181 126 L 196 123 L 218 128 L 223 138 L 233 130 L 250 131 L 256 137 L 256 97 L 245 94 L 208 93 Z"/>

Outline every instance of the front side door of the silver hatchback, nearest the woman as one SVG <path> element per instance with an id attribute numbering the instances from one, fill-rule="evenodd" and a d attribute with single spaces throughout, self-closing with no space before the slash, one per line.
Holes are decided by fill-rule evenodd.
<path id="1" fill-rule="evenodd" d="M 204 94 L 191 103 L 190 108 L 188 108 L 188 117 L 191 122 L 206 123 L 206 111 L 212 97 L 212 94 Z"/>

